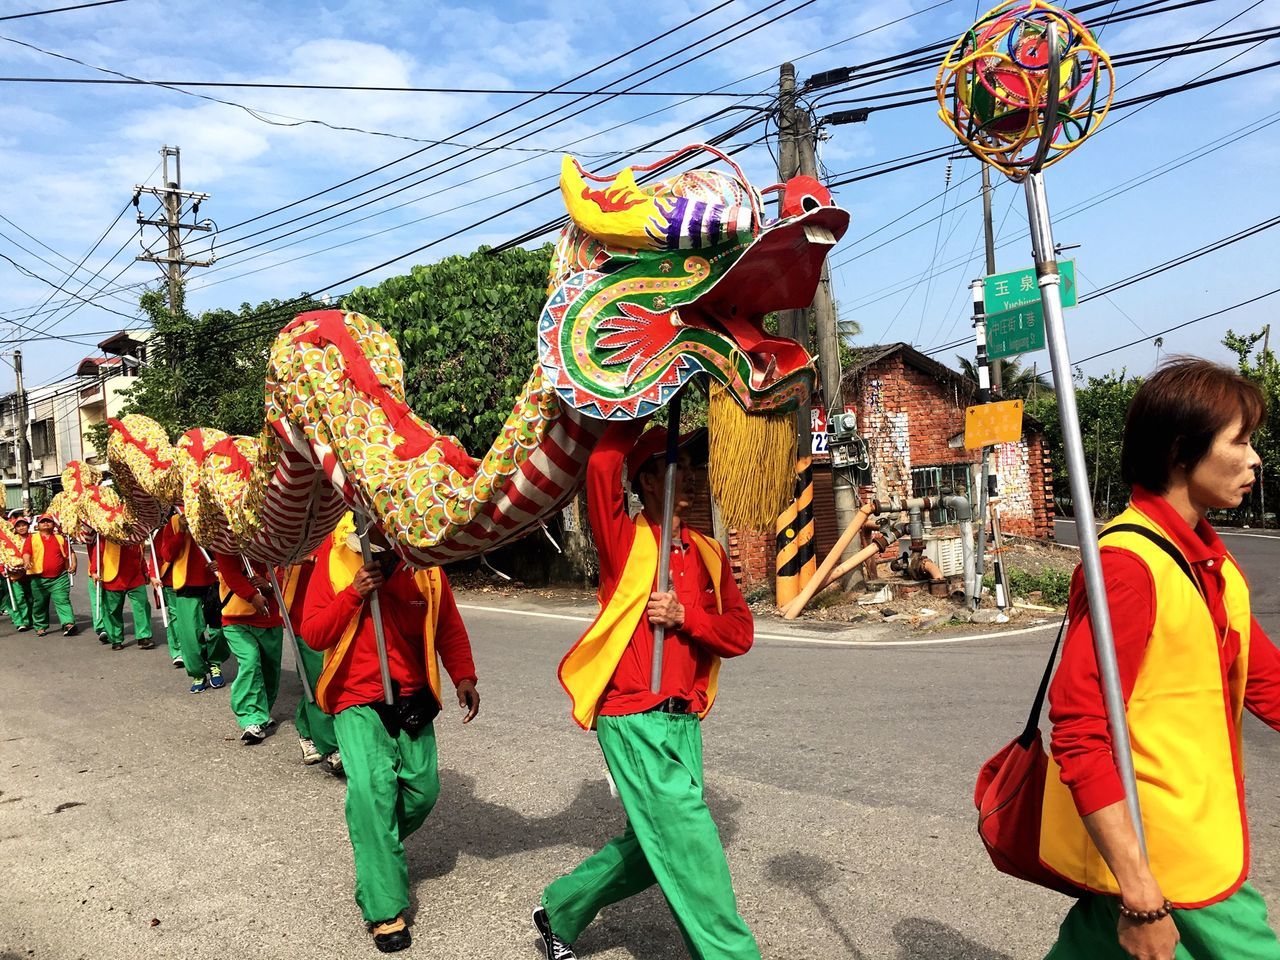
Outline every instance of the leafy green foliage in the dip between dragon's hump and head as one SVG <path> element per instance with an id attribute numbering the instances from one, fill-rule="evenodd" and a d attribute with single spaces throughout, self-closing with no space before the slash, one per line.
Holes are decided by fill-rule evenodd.
<path id="1" fill-rule="evenodd" d="M 472 456 L 489 449 L 532 372 L 550 255 L 550 244 L 481 247 L 358 287 L 343 302 L 396 338 L 408 404 Z"/>

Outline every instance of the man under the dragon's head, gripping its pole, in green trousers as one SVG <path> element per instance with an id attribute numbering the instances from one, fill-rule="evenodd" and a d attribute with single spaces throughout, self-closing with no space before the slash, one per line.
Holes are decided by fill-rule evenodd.
<path id="1" fill-rule="evenodd" d="M 751 611 L 721 545 L 682 522 L 705 433 L 681 440 L 672 539 L 662 544 L 667 431 L 654 428 L 637 440 L 641 425 L 611 425 L 588 461 L 600 613 L 559 669 L 573 719 L 596 730 L 627 826 L 547 887 L 534 927 L 548 960 L 572 960 L 572 942 L 602 909 L 657 883 L 695 960 L 760 960 L 703 797 L 701 718 L 716 699 L 721 657 L 751 646 Z M 623 462 L 643 503 L 635 518 Z M 668 591 L 655 589 L 660 550 L 671 556 Z M 654 691 L 657 626 L 666 641 Z"/>

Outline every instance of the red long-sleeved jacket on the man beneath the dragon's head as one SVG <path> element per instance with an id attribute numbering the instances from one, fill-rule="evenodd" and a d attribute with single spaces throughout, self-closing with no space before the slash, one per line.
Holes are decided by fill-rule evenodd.
<path id="1" fill-rule="evenodd" d="M 622 493 L 622 467 L 643 424 L 613 424 L 591 452 L 586 466 L 586 502 L 591 534 L 600 556 L 600 598 L 613 594 L 622 577 L 636 525 L 627 516 Z M 672 549 L 671 580 L 685 607 L 685 623 L 668 630 L 663 645 L 662 687 L 650 691 L 653 671 L 653 626 L 640 620 L 613 680 L 604 692 L 600 714 L 618 717 L 641 713 L 669 696 L 689 700 L 695 710 L 707 708 L 707 682 L 698 682 L 699 664 L 712 654 L 739 657 L 751 649 L 751 611 L 737 589 L 728 564 L 721 571 L 723 613 L 716 611 L 710 573 L 681 530 L 682 549 Z M 701 671 L 705 676 L 707 671 Z"/>

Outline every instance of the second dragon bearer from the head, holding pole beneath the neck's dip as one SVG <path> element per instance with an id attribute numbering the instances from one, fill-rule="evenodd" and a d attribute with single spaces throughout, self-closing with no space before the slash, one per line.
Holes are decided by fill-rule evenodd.
<path id="1" fill-rule="evenodd" d="M 378 590 L 393 704 L 384 703 L 369 596 Z M 471 641 L 449 581 L 415 571 L 385 550 L 365 564 L 348 515 L 321 547 L 307 588 L 302 636 L 324 650 L 316 700 L 333 714 L 347 773 L 347 832 L 356 859 L 356 902 L 383 952 L 410 946 L 404 840 L 440 792 L 435 730 L 443 704 L 439 662 L 456 687 L 463 723 L 480 710 Z"/>

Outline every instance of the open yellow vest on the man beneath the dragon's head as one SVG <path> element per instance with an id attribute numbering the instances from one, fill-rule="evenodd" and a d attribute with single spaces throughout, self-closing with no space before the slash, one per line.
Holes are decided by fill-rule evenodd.
<path id="1" fill-rule="evenodd" d="M 635 522 L 635 540 L 631 544 L 631 553 L 627 556 L 626 567 L 622 568 L 617 589 L 608 602 L 602 604 L 600 613 L 582 634 L 582 637 L 561 660 L 561 686 L 573 701 L 573 719 L 584 730 L 595 728 L 595 718 L 600 714 L 604 691 L 608 689 L 618 663 L 622 662 L 622 654 L 626 653 L 636 627 L 640 626 L 640 620 L 649 605 L 649 594 L 654 591 L 658 580 L 658 536 L 660 534 L 645 518 L 644 513 L 637 515 Z M 719 581 L 724 557 L 721 553 L 721 547 L 692 529 L 689 530 L 689 539 L 698 548 L 698 554 L 710 573 L 712 588 L 716 591 L 716 612 L 723 613 Z M 707 709 L 701 712 L 703 717 L 710 712 L 712 703 L 716 700 L 719 663 L 719 657 L 713 655 L 710 677 L 707 682 Z"/>

